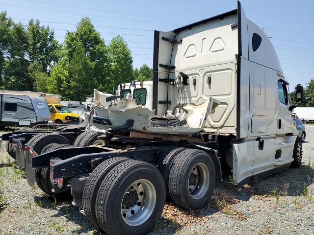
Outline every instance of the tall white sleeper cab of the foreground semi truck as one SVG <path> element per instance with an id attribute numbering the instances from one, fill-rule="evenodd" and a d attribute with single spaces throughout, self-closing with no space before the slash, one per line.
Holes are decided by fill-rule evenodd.
<path id="1" fill-rule="evenodd" d="M 232 140 L 221 156 L 232 168 L 235 184 L 293 162 L 299 139 L 288 82 L 269 38 L 240 3 L 237 10 L 171 32 L 155 31 L 153 67 L 158 115 L 178 103 L 220 101 L 202 133 Z"/>

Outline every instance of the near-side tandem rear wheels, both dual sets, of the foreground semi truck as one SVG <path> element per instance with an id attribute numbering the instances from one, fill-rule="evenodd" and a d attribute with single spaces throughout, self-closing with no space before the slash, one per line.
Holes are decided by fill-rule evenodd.
<path id="1" fill-rule="evenodd" d="M 209 203 L 215 169 L 206 152 L 175 148 L 158 168 L 123 157 L 99 164 L 83 191 L 87 218 L 106 234 L 146 234 L 161 217 L 166 194 L 188 210 Z"/>

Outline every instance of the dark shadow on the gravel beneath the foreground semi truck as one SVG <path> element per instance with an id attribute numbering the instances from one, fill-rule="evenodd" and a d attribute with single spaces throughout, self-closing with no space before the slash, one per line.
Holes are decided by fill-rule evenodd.
<path id="1" fill-rule="evenodd" d="M 150 233 L 175 234 L 184 226 L 199 223 L 204 218 L 210 219 L 218 211 L 233 219 L 245 220 L 246 214 L 235 210 L 235 204 L 240 201 L 248 201 L 252 196 L 281 195 L 281 196 L 302 196 L 314 182 L 314 169 L 308 165 L 301 165 L 300 168 L 289 168 L 283 172 L 265 177 L 235 189 L 235 186 L 228 181 L 216 181 L 216 190 L 209 205 L 202 210 L 185 211 L 171 203 L 164 207 L 162 217 L 157 221 L 156 228 Z M 82 208 L 74 207 L 71 201 L 55 201 L 48 196 L 36 196 L 37 205 L 43 208 L 56 210 L 53 217 L 65 217 L 79 226 L 78 234 L 90 233 L 101 234 L 92 223 L 85 217 Z"/>

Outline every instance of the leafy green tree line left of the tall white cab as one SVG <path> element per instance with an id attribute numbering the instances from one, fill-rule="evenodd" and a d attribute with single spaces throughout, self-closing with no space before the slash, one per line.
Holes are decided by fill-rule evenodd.
<path id="1" fill-rule="evenodd" d="M 89 18 L 60 44 L 49 25 L 31 19 L 14 23 L 0 13 L 0 89 L 60 94 L 65 100 L 84 100 L 94 89 L 112 93 L 113 84 L 152 80 L 146 64 L 133 70 L 131 50 L 123 37 L 108 45 Z"/>

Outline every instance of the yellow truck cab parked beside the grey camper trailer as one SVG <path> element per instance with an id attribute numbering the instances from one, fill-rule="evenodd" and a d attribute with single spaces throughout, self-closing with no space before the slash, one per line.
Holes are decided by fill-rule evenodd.
<path id="1" fill-rule="evenodd" d="M 79 115 L 61 104 L 49 103 L 49 110 L 54 124 L 79 124 Z"/>

